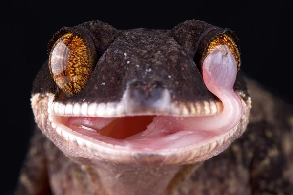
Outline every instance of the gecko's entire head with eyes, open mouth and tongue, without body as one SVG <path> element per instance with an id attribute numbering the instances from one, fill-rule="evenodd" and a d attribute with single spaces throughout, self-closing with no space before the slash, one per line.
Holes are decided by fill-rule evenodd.
<path id="1" fill-rule="evenodd" d="M 31 102 L 67 156 L 152 166 L 221 153 L 245 131 L 251 108 L 234 34 L 198 20 L 172 30 L 64 27 Z"/>

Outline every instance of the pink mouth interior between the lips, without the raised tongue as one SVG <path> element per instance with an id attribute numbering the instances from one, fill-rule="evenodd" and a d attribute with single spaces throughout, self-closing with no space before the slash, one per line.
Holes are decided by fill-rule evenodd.
<path id="1" fill-rule="evenodd" d="M 136 150 L 181 148 L 220 136 L 217 131 L 200 130 L 201 117 L 127 116 L 63 117 L 55 122 L 82 136 L 107 144 Z"/>

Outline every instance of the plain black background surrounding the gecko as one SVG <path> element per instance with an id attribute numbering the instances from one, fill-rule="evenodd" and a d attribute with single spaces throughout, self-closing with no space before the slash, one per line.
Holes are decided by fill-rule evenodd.
<path id="1" fill-rule="evenodd" d="M 48 41 L 63 26 L 101 20 L 117 29 L 171 29 L 185 20 L 197 19 L 228 27 L 240 39 L 242 70 L 286 102 L 293 99 L 293 6 L 289 0 L 111 1 L 109 4 L 16 0 L 3 5 L 2 10 L 1 66 L 7 70 L 1 69 L 5 73 L 1 77 L 4 99 L 1 107 L 5 106 L 2 113 L 8 117 L 2 121 L 5 124 L 0 160 L 4 170 L 1 177 L 5 179 L 5 185 L 1 185 L 3 193 L 14 189 L 34 127 L 29 100 L 33 79 L 48 57 Z"/>

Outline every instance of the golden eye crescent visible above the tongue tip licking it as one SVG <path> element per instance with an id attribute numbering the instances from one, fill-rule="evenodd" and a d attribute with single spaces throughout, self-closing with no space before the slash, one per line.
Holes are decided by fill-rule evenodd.
<path id="1" fill-rule="evenodd" d="M 209 47 L 207 49 L 206 54 L 201 59 L 201 62 L 203 62 L 203 60 L 209 55 L 209 53 L 212 52 L 215 49 L 215 47 L 219 46 L 219 45 L 227 45 L 228 46 L 230 52 L 233 54 L 233 56 L 235 58 L 235 61 L 237 63 L 238 70 L 239 70 L 239 68 L 240 68 L 240 53 L 239 53 L 239 50 L 237 48 L 236 43 L 227 34 L 220 35 L 219 37 L 217 37 L 216 39 L 213 39 L 211 41 L 211 43 L 209 44 Z"/>

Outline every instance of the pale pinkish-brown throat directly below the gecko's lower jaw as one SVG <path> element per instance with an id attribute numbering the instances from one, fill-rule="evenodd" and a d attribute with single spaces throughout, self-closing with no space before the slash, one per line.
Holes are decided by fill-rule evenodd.
<path id="1" fill-rule="evenodd" d="M 100 189 L 103 188 L 107 195 L 172 194 L 184 177 L 192 173 L 192 167 L 118 165 L 101 161 L 95 166 L 82 166 L 92 178 L 91 181 L 97 182 L 98 178 Z M 94 185 L 96 183 L 92 184 Z"/>

